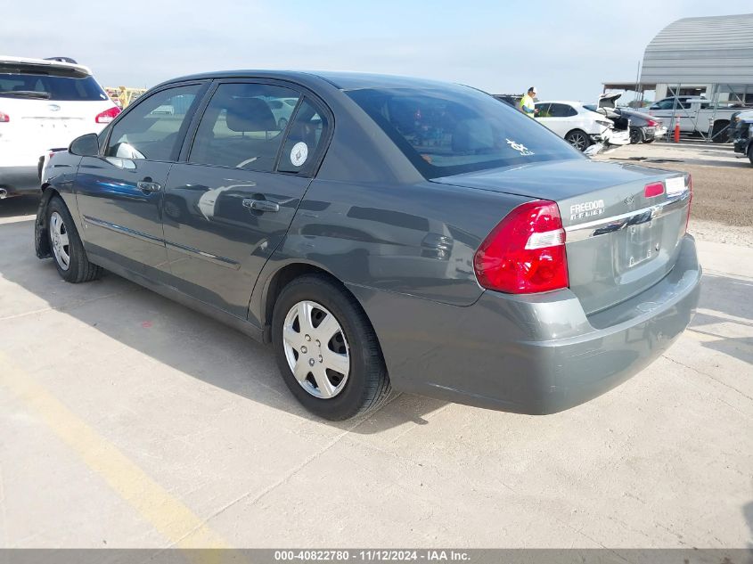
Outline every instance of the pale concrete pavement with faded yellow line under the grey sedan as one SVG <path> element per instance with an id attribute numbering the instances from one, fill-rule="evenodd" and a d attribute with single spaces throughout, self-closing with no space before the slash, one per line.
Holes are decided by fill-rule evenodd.
<path id="1" fill-rule="evenodd" d="M 61 282 L 34 256 L 33 206 L 13 205 L 0 546 L 751 544 L 753 249 L 700 241 L 691 330 L 586 405 L 530 417 L 402 395 L 332 424 L 266 347 L 112 274 Z"/>

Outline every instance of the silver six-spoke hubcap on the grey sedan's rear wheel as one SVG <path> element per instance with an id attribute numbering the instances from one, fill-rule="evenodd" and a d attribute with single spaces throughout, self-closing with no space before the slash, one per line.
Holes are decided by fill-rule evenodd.
<path id="1" fill-rule="evenodd" d="M 301 388 L 321 399 L 340 394 L 350 373 L 350 351 L 340 322 L 314 301 L 291 307 L 282 325 L 285 358 Z"/>

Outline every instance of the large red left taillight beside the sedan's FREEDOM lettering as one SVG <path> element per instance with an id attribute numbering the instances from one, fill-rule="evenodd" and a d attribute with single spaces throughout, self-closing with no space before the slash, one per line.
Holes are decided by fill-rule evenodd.
<path id="1" fill-rule="evenodd" d="M 514 208 L 481 243 L 473 267 L 489 290 L 528 294 L 567 288 L 560 208 L 548 200 Z"/>

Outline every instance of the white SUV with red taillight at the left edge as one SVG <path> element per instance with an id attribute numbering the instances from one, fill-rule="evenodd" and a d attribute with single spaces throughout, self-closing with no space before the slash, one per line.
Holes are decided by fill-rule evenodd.
<path id="1" fill-rule="evenodd" d="M 38 192 L 40 157 L 119 114 L 91 71 L 70 61 L 0 55 L 0 199 Z"/>

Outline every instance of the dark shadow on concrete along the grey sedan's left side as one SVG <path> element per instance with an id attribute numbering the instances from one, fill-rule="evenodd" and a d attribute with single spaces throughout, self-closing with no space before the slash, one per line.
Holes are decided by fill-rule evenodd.
<path id="1" fill-rule="evenodd" d="M 9 252 L 0 254 L 0 277 L 41 298 L 48 307 L 192 378 L 301 418 L 361 434 L 405 423 L 426 424 L 430 413 L 446 405 L 393 392 L 374 413 L 356 420 L 325 421 L 308 413 L 291 395 L 272 347 L 116 274 L 106 273 L 101 280 L 85 284 L 62 282 L 52 259 L 35 257 L 33 229 L 31 218 L 0 224 L 0 238 L 10 242 Z M 3 304 L 12 309 L 10 301 L 0 297 L 0 307 Z"/>

